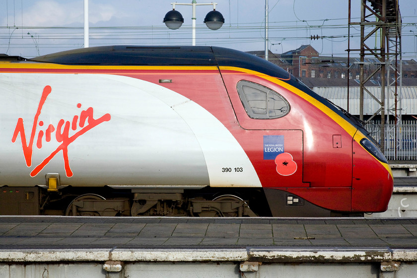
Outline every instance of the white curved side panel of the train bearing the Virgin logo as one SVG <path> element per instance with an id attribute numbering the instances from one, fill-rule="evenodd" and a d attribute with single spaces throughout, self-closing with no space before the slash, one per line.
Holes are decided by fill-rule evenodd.
<path id="1" fill-rule="evenodd" d="M 1 73 L 0 84 L 1 186 L 45 185 L 49 173 L 72 186 L 261 186 L 242 147 L 214 116 L 157 84 L 62 73 Z M 51 91 L 42 100 L 46 86 Z M 221 171 L 231 164 L 245 171 Z"/>

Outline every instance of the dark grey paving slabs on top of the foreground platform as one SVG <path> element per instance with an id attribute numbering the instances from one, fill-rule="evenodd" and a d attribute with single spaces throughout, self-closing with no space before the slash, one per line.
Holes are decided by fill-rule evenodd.
<path id="1" fill-rule="evenodd" d="M 417 219 L 1 216 L 0 250 L 414 249 Z"/>

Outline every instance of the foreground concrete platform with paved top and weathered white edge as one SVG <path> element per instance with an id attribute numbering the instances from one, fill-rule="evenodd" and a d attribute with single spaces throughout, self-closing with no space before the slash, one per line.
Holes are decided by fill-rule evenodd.
<path id="1" fill-rule="evenodd" d="M 401 278 L 416 262 L 416 218 L 0 217 L 0 277 L 268 277 L 296 264 L 294 277 Z"/>

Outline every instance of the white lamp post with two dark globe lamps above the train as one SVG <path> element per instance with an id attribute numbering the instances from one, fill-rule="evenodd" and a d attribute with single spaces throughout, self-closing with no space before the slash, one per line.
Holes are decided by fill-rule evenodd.
<path id="1" fill-rule="evenodd" d="M 175 6 L 176 5 L 187 5 L 187 6 L 192 6 L 193 8 L 193 16 L 192 16 L 192 20 L 193 20 L 193 41 L 192 41 L 192 45 L 195 46 L 196 45 L 196 6 L 197 5 L 213 5 L 213 10 L 210 11 L 207 15 L 206 18 L 204 19 L 204 23 L 206 23 L 207 27 L 209 27 L 209 29 L 211 30 L 217 30 L 219 29 L 223 23 L 224 23 L 224 17 L 223 15 L 216 11 L 216 4 L 214 2 L 211 3 L 197 3 L 196 0 L 193 0 L 191 3 L 171 3 L 172 5 L 172 10 L 168 11 L 165 14 L 164 17 L 164 23 L 166 25 L 166 27 L 168 27 L 171 30 L 176 30 L 178 28 L 181 27 L 181 25 L 184 23 L 184 18 L 182 16 L 182 14 L 179 11 L 175 10 Z"/>

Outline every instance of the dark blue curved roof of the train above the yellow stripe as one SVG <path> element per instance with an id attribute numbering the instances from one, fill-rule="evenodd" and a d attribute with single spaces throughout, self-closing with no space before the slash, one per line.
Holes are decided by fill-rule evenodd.
<path id="1" fill-rule="evenodd" d="M 106 66 L 227 66 L 256 70 L 289 79 L 287 71 L 254 55 L 210 46 L 99 46 L 28 59 L 63 65 Z"/>

